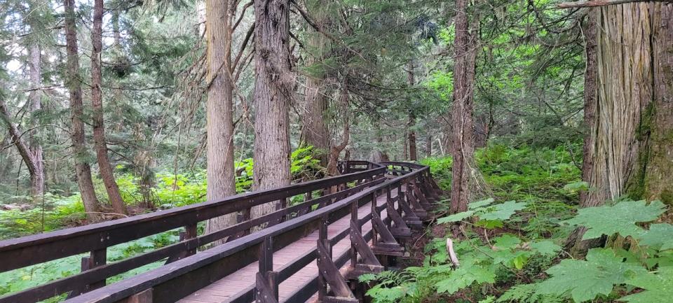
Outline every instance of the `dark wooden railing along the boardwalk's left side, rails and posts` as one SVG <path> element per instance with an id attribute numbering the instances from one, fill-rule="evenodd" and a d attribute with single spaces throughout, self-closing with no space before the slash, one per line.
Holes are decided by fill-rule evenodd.
<path id="1" fill-rule="evenodd" d="M 128 272 L 153 262 L 166 260 L 166 263 L 172 263 L 170 267 L 160 267 L 146 274 L 161 276 L 164 271 L 172 274 L 186 273 L 189 269 L 198 267 L 204 260 L 219 260 L 224 258 L 225 248 L 231 248 L 227 253 L 233 251 L 247 251 L 251 245 L 257 245 L 259 242 L 244 244 L 244 239 L 250 237 L 257 239 L 261 234 L 268 234 L 269 231 L 278 232 L 285 230 L 287 222 L 307 216 L 308 213 L 315 213 L 313 209 L 322 211 L 327 205 L 344 199 L 348 196 L 362 192 L 367 188 L 380 185 L 385 182 L 383 175 L 386 174 L 386 168 L 381 164 L 372 162 L 354 161 L 342 162 L 339 169 L 343 175 L 324 178 L 317 181 L 309 181 L 289 185 L 283 188 L 271 190 L 262 190 L 258 192 L 247 192 L 232 197 L 226 197 L 215 201 L 183 206 L 166 211 L 157 211 L 140 216 L 112 220 L 104 223 L 96 223 L 83 227 L 74 227 L 45 234 L 36 234 L 33 236 L 0 241 L 0 272 L 8 272 L 13 269 L 36 265 L 51 260 L 66 258 L 81 253 L 89 253 L 88 257 L 82 259 L 82 272 L 73 276 L 51 281 L 41 286 L 29 288 L 19 293 L 12 293 L 0 297 L 0 303 L 22 303 L 37 302 L 46 300 L 55 295 L 69 293 L 69 297 L 74 297 L 73 302 L 97 302 L 83 301 L 78 299 L 82 293 L 87 293 L 96 288 L 102 288 L 105 280 L 112 276 Z M 355 183 L 355 185 L 353 185 Z M 320 197 L 312 197 L 316 190 L 322 192 Z M 203 234 L 197 236 L 197 223 L 210 218 L 223 216 L 229 213 L 242 213 L 249 210 L 252 206 L 257 206 L 267 202 L 276 202 L 289 199 L 297 195 L 304 195 L 304 202 L 284 209 L 279 209 L 252 220 L 241 218 L 236 225 L 226 227 L 224 230 Z M 311 212 L 313 211 L 313 213 Z M 312 218 L 312 217 L 311 217 Z M 290 221 L 288 221 L 290 220 Z M 309 220 L 309 219 L 307 219 Z M 304 221 L 301 221 L 304 222 Z M 256 232 L 254 236 L 250 231 L 257 226 L 264 225 L 266 229 Z M 175 230 L 182 227 L 184 230 L 180 233 L 180 241 L 162 248 L 158 248 L 148 253 L 133 256 L 114 263 L 107 264 L 107 248 L 116 244 L 122 244 L 143 237 L 148 237 L 161 232 Z M 288 237 L 287 239 L 294 239 Z M 204 253 L 199 253 L 185 265 L 183 261 L 189 258 L 189 255 L 196 253 L 196 250 L 214 241 L 227 239 L 229 241 L 222 246 L 210 249 Z M 280 237 L 274 247 L 285 244 L 280 241 Z M 226 253 L 224 253 L 226 255 Z M 257 258 L 257 254 L 252 254 Z M 241 257 L 240 261 L 247 263 L 254 262 L 250 256 Z M 184 260 L 182 260 L 184 259 Z M 250 259 L 250 260 L 249 260 Z M 229 259 L 231 260 L 231 259 Z M 243 264 L 245 262 L 240 262 Z M 217 262 L 216 262 L 217 263 Z M 219 263 L 218 263 L 219 264 Z M 210 268 L 210 267 L 209 267 Z M 230 269 L 233 269 L 231 267 Z M 189 271 L 188 271 L 189 272 Z M 196 270 L 195 272 L 199 272 Z M 226 270 L 222 273 L 227 272 Z M 150 280 L 152 283 L 162 281 L 161 279 Z M 200 281 L 193 279 L 194 283 Z M 131 282 L 121 281 L 112 286 L 104 287 L 106 291 L 110 287 L 114 289 L 128 286 Z M 149 282 L 141 283 L 141 286 L 130 287 L 124 292 L 130 295 L 138 293 L 144 285 Z M 153 287 L 153 286 L 150 286 Z M 102 288 L 103 289 L 103 288 Z M 172 291 L 168 291 L 171 293 Z M 175 292 L 174 292 L 175 293 Z M 80 295 L 79 297 L 77 297 Z M 112 296 L 118 297 L 118 295 Z M 161 297 L 161 295 L 159 295 Z M 170 295 L 168 297 L 175 297 Z M 103 300 L 101 302 L 110 302 Z M 169 302 L 169 301 L 154 301 Z"/>

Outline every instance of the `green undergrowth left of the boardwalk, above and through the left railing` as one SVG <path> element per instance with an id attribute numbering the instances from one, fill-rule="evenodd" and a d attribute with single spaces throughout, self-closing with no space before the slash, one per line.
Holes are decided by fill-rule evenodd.
<path id="1" fill-rule="evenodd" d="M 292 153 L 292 166 L 290 172 L 294 182 L 309 181 L 322 178 L 324 168 L 320 167 L 320 161 L 313 156 L 313 148 L 299 148 Z M 236 162 L 236 191 L 247 192 L 252 188 L 252 159 Z M 97 192 L 104 193 L 102 182 L 95 181 Z M 123 174 L 117 178 L 121 195 L 130 209 L 140 212 L 153 211 L 143 209 L 143 195 L 140 188 L 140 178 L 132 174 Z M 195 170 L 184 174 L 172 174 L 168 172 L 158 173 L 154 178 L 154 186 L 151 188 L 153 204 L 159 209 L 170 209 L 178 206 L 186 206 L 205 201 L 206 173 L 204 169 Z M 313 197 L 319 197 L 320 191 L 313 192 Z M 13 197 L 13 200 L 21 200 L 21 197 Z M 99 197 L 105 207 L 107 197 Z M 303 195 L 297 195 L 290 199 L 291 204 L 303 201 Z M 20 205 L 22 209 L 0 211 L 0 239 L 21 237 L 29 234 L 48 232 L 64 227 L 86 224 L 81 197 L 73 195 L 60 197 L 47 194 L 39 202 L 30 202 L 28 207 Z M 198 225 L 198 232 L 203 233 L 204 224 Z M 118 244 L 107 248 L 107 261 L 116 262 L 130 258 L 140 253 L 147 253 L 156 248 L 161 248 L 177 243 L 179 229 L 162 232 L 128 243 Z M 15 293 L 34 286 L 43 285 L 49 281 L 72 276 L 80 272 L 81 258 L 86 254 L 74 255 L 59 260 L 44 262 L 10 272 L 0 273 L 0 296 Z M 165 260 L 153 262 L 129 272 L 119 274 L 107 279 L 107 283 L 114 283 L 130 276 L 135 276 L 150 269 L 160 267 Z M 53 297 L 44 302 L 60 302 L 65 295 Z"/>

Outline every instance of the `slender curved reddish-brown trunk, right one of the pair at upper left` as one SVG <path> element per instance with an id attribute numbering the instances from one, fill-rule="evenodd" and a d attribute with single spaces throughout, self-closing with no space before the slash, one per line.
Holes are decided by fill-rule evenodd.
<path id="1" fill-rule="evenodd" d="M 100 178 L 105 185 L 107 197 L 112 210 L 115 213 L 126 214 L 126 206 L 119 188 L 114 180 L 114 169 L 110 164 L 107 155 L 107 142 L 105 141 L 105 121 L 103 118 L 103 96 L 101 91 L 102 72 L 101 72 L 101 54 L 102 54 L 102 24 L 103 24 L 103 0 L 95 0 L 93 6 L 93 29 L 91 29 L 91 109 L 93 120 L 93 143 L 96 148 L 96 158 L 98 160 L 98 169 Z"/>

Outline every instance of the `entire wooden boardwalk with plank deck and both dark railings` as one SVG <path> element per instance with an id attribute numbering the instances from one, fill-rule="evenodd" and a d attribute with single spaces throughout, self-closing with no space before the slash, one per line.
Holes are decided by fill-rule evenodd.
<path id="1" fill-rule="evenodd" d="M 355 160 L 340 162 L 339 171 L 282 188 L 0 241 L 0 260 L 12 260 L 0 262 L 0 273 L 88 253 L 79 274 L 1 295 L 0 303 L 42 302 L 62 294 L 68 295 L 66 303 L 358 302 L 365 286 L 357 276 L 381 272 L 389 257 L 404 256 L 400 244 L 430 220 L 443 193 L 421 164 Z M 324 194 L 312 197 L 313 192 Z M 301 196 L 303 203 L 197 232 L 205 220 Z M 259 225 L 266 227 L 250 233 Z M 177 228 L 177 243 L 107 260 L 111 246 Z M 239 234 L 245 236 L 198 252 Z M 160 261 L 165 265 L 106 283 Z"/>

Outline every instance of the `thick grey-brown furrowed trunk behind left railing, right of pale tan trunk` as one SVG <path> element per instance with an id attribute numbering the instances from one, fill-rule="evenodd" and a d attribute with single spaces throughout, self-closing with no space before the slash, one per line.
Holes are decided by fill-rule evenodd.
<path id="1" fill-rule="evenodd" d="M 254 1 L 254 153 L 253 188 L 290 184 L 290 100 L 294 75 L 290 65 L 290 1 Z M 256 218 L 284 206 L 255 206 Z"/>

